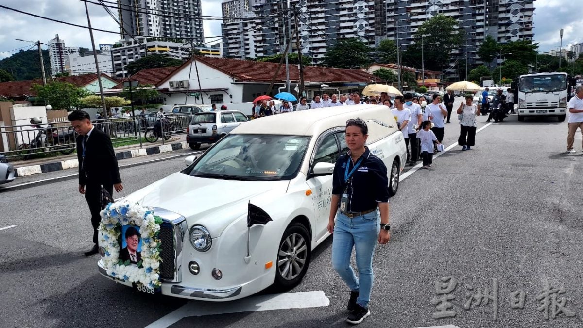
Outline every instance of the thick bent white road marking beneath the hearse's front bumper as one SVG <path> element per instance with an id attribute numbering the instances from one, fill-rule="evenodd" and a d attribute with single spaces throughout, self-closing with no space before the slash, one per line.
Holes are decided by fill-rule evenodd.
<path id="1" fill-rule="evenodd" d="M 189 301 L 146 328 L 166 328 L 183 317 L 222 315 L 226 313 L 255 312 L 281 309 L 318 308 L 330 305 L 324 291 L 290 292 L 276 295 L 250 296 L 231 302 Z"/>

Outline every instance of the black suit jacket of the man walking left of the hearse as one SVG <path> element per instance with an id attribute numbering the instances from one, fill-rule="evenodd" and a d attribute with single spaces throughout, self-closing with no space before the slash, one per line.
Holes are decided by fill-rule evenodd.
<path id="1" fill-rule="evenodd" d="M 77 136 L 77 159 L 79 159 L 79 184 L 103 184 L 112 186 L 121 183 L 120 169 L 108 135 L 94 128 L 85 145 L 83 159 L 83 135 Z"/>

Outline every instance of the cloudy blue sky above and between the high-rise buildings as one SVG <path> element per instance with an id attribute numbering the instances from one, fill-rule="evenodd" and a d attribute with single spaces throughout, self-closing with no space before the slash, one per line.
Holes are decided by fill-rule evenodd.
<path id="1" fill-rule="evenodd" d="M 221 16 L 221 2 L 222 0 L 202 0 L 202 14 Z M 564 30 L 563 47 L 583 42 L 583 35 L 577 33 L 575 28 L 583 25 L 580 2 L 581 0 L 535 1 L 535 42 L 539 43 L 540 50 L 548 51 L 559 48 L 560 29 Z M 0 4 L 36 15 L 87 26 L 85 5 L 79 0 L 1 0 Z M 115 12 L 115 9 L 111 10 Z M 119 30 L 114 20 L 101 6 L 89 4 L 89 13 L 93 27 L 111 31 Z M 203 26 L 205 37 L 220 37 L 220 21 L 204 20 Z M 10 57 L 17 52 L 17 50 L 10 50 L 30 45 L 30 43 L 15 39 L 41 40 L 41 42 L 47 43 L 57 33 L 65 41 L 66 46 L 91 47 L 87 29 L 62 25 L 0 8 L 0 59 Z M 105 32 L 96 32 L 94 36 L 96 46 L 99 43 L 115 43 L 120 37 L 119 34 Z M 218 39 L 206 39 L 206 41 L 212 40 Z"/>

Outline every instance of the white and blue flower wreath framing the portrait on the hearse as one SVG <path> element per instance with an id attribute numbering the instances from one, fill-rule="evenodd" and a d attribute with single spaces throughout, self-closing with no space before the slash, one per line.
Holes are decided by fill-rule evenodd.
<path id="1" fill-rule="evenodd" d="M 105 249 L 101 258 L 103 267 L 111 277 L 127 282 L 141 283 L 148 288 L 160 287 L 160 239 L 158 232 L 162 220 L 153 211 L 139 204 L 128 201 L 110 203 L 101 211 L 100 246 Z M 139 227 L 142 240 L 142 260 L 138 265 L 118 259 L 121 249 L 121 227 L 134 225 Z"/>

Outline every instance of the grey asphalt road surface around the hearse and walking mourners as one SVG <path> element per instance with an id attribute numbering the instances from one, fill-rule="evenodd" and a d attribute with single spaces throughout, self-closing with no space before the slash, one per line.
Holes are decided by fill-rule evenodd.
<path id="1" fill-rule="evenodd" d="M 478 118 L 479 128 L 486 117 Z M 452 122 L 456 122 L 452 118 Z M 476 146 L 442 153 L 417 170 L 391 199 L 392 239 L 374 259 L 372 315 L 364 327 L 582 327 L 581 160 L 568 155 L 566 123 L 516 116 L 477 134 Z M 447 124 L 444 144 L 459 125 Z M 578 151 L 580 135 L 575 141 Z M 184 167 L 183 158 L 121 170 L 131 193 Z M 187 302 L 145 295 L 101 277 L 85 257 L 91 228 L 75 180 L 0 193 L 0 327 L 143 327 Z M 331 238 L 315 251 L 290 292 L 324 291 L 329 305 L 185 317 L 174 327 L 344 327 L 347 288 L 330 263 Z M 436 280 L 455 277 L 455 317 L 434 319 Z M 493 300 L 469 310 L 471 291 L 498 283 Z M 565 313 L 546 320 L 536 299 L 546 282 L 563 287 Z M 511 293 L 524 291 L 523 308 Z M 469 294 L 471 295 L 471 294 Z M 549 306 L 552 310 L 553 306 Z"/>

